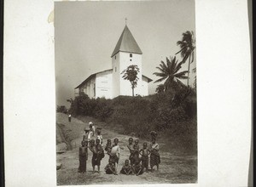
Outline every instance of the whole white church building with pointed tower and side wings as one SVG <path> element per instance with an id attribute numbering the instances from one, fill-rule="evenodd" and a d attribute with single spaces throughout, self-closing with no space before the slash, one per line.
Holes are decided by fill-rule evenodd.
<path id="1" fill-rule="evenodd" d="M 124 80 L 121 72 L 129 65 L 137 65 L 139 72 L 134 95 L 148 95 L 148 82 L 151 82 L 152 79 L 143 75 L 142 57 L 141 48 L 139 48 L 128 26 L 125 26 L 111 55 L 112 69 L 90 75 L 75 88 L 75 94 L 84 93 L 90 98 L 104 97 L 106 99 L 113 99 L 119 95 L 132 96 L 131 82 Z"/>

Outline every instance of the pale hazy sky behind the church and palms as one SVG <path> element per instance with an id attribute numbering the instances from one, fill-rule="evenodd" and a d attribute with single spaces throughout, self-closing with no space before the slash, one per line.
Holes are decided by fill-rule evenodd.
<path id="1" fill-rule="evenodd" d="M 69 106 L 74 88 L 90 74 L 111 69 L 110 56 L 125 18 L 143 51 L 143 75 L 155 81 L 155 67 L 179 51 L 182 33 L 195 32 L 195 1 L 55 2 L 56 105 Z M 177 59 L 182 59 L 179 54 Z M 190 70 L 195 64 L 196 60 Z M 186 63 L 181 71 L 187 69 Z M 193 83 L 195 73 L 189 77 Z M 149 94 L 160 84 L 154 81 L 148 84 Z"/>

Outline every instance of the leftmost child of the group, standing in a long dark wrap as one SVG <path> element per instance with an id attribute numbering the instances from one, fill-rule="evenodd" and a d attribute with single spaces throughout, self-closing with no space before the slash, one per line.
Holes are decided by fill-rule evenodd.
<path id="1" fill-rule="evenodd" d="M 79 147 L 79 173 L 86 173 L 86 161 L 88 160 L 88 141 L 83 140 Z"/>

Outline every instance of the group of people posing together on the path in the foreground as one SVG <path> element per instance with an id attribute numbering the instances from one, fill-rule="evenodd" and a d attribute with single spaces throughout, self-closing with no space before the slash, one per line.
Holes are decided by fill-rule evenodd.
<path id="1" fill-rule="evenodd" d="M 88 160 L 88 148 L 92 152 L 91 165 L 93 168 L 93 173 L 96 172 L 95 167 L 97 166 L 97 173 L 100 173 L 101 161 L 105 157 L 105 152 L 108 154 L 108 165 L 105 167 L 105 172 L 107 174 L 118 174 L 118 164 L 120 156 L 119 139 L 113 139 L 113 144 L 111 139 L 107 140 L 107 144 L 103 149 L 103 139 L 101 130 L 102 128 L 93 125 L 92 122 L 89 123 L 90 129 L 84 129 L 84 137 L 79 147 L 79 173 L 86 173 L 86 161 Z M 97 133 L 96 139 L 95 132 Z M 156 166 L 159 170 L 160 164 L 160 154 L 159 154 L 159 144 L 156 143 L 156 133 L 153 131 L 150 133 L 152 136 L 152 144 L 149 145 L 147 142 L 143 143 L 143 148 L 140 149 L 139 140 L 130 138 L 128 140 L 127 148 L 130 151 L 129 159 L 125 160 L 124 166 L 121 168 L 120 173 L 122 174 L 143 174 L 144 171 L 148 172 L 148 165 L 153 171 L 153 167 Z M 134 142 L 134 143 L 133 143 Z M 149 161 L 150 158 L 150 161 Z"/>

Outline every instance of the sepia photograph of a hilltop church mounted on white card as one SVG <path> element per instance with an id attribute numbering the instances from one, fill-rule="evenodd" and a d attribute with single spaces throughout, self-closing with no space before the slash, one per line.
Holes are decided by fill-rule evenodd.
<path id="1" fill-rule="evenodd" d="M 54 14 L 57 184 L 197 183 L 195 1 Z"/>

